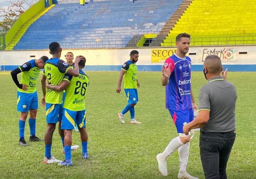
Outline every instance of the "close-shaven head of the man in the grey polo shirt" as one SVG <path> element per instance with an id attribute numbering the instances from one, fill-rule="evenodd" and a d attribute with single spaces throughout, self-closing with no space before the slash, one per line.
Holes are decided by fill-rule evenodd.
<path id="1" fill-rule="evenodd" d="M 216 74 L 222 71 L 222 65 L 220 57 L 217 55 L 209 55 L 204 60 L 204 68 L 207 68 L 207 72 Z"/>

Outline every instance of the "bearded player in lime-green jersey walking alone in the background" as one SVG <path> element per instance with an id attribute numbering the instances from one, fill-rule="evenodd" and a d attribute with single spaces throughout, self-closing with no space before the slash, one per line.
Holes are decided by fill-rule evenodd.
<path id="1" fill-rule="evenodd" d="M 137 88 L 140 87 L 140 83 L 137 79 L 137 66 L 136 62 L 139 59 L 139 52 L 137 50 L 132 50 L 130 53 L 130 60 L 123 64 L 121 69 L 119 78 L 118 78 L 118 86 L 116 88 L 116 92 L 120 93 L 121 91 L 121 83 L 124 76 L 124 91 L 128 100 L 128 104 L 124 108 L 123 111 L 117 114 L 121 123 L 124 122 L 124 114 L 130 111 L 131 121 L 130 124 L 141 124 L 135 119 L 135 110 L 134 106 L 138 102 L 138 92 Z"/>

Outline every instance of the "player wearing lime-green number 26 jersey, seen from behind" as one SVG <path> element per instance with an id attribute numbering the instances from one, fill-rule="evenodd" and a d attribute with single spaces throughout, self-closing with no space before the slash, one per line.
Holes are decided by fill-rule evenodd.
<path id="1" fill-rule="evenodd" d="M 78 130 L 80 132 L 82 141 L 82 156 L 83 159 L 89 158 L 87 152 L 88 135 L 85 129 L 86 121 L 86 109 L 85 109 L 85 96 L 86 90 L 89 85 L 89 78 L 82 71 L 85 66 L 86 59 L 83 57 L 78 63 L 79 77 L 72 77 L 72 75 L 65 74 L 62 82 L 59 85 L 46 84 L 48 89 L 60 92 L 65 89 L 66 97 L 62 111 L 61 129 L 64 129 L 65 138 L 65 160 L 59 162 L 61 166 L 72 166 L 71 161 L 71 145 L 72 145 L 72 130 L 75 127 L 75 123 L 78 124 Z"/>

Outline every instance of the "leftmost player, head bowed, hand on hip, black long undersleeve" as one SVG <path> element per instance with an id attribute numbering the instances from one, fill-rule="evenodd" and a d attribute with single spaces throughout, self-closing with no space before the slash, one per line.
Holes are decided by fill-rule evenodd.
<path id="1" fill-rule="evenodd" d="M 48 60 L 47 56 L 42 56 L 37 60 L 30 60 L 23 65 L 11 71 L 12 80 L 18 86 L 17 90 L 17 111 L 21 112 L 19 120 L 19 131 L 21 146 L 28 146 L 24 139 L 24 129 L 29 111 L 29 141 L 43 141 L 36 137 L 36 113 L 38 109 L 38 97 L 36 93 L 36 83 L 40 73 L 40 69 L 44 68 L 44 63 Z M 21 74 L 19 83 L 17 74 Z"/>

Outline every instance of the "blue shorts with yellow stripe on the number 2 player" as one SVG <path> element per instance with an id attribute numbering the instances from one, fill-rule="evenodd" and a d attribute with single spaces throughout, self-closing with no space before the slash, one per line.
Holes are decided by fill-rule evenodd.
<path id="1" fill-rule="evenodd" d="M 61 104 L 46 103 L 46 123 L 58 123 L 61 121 Z"/>

